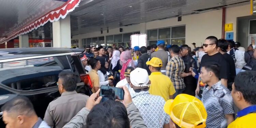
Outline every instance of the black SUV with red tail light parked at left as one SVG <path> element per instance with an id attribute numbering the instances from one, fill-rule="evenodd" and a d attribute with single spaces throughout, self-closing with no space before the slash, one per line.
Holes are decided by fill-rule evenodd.
<path id="1" fill-rule="evenodd" d="M 91 94 L 89 75 L 85 74 L 76 48 L 8 48 L 0 50 L 0 107 L 8 100 L 24 95 L 44 117 L 49 102 L 59 97 L 57 86 L 61 71 L 77 75 L 78 93 Z M 0 127 L 4 127 L 2 120 Z"/>

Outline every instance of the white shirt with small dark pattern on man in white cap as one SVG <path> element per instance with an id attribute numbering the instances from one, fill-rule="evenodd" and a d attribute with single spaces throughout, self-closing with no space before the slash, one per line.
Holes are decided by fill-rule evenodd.
<path id="1" fill-rule="evenodd" d="M 168 124 L 170 116 L 165 113 L 165 100 L 160 96 L 150 95 L 148 91 L 140 91 L 132 97 L 148 128 L 162 128 Z"/>

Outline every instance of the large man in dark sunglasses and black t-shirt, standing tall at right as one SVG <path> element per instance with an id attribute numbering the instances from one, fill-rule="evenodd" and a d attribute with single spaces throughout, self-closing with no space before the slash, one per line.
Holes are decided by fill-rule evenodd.
<path id="1" fill-rule="evenodd" d="M 225 87 L 228 86 L 228 74 L 227 61 L 221 53 L 217 51 L 218 39 L 214 36 L 207 37 L 203 44 L 203 51 L 207 54 L 203 55 L 198 72 L 201 72 L 201 68 L 207 64 L 213 64 L 220 66 L 219 79 L 221 84 Z M 205 85 L 205 84 L 204 84 Z M 202 98 L 203 87 L 197 84 L 196 95 Z"/>

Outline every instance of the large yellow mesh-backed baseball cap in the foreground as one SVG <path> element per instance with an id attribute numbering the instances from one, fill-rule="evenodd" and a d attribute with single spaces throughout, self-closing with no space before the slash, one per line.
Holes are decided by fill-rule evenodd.
<path id="1" fill-rule="evenodd" d="M 181 128 L 205 128 L 207 112 L 202 101 L 194 96 L 180 94 L 168 100 L 163 108 L 172 121 Z M 200 124 L 201 123 L 201 124 Z"/>

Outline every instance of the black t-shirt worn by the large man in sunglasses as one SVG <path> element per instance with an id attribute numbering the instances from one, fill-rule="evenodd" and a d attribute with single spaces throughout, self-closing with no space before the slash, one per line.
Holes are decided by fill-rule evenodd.
<path id="1" fill-rule="evenodd" d="M 224 56 L 221 53 L 216 53 L 212 56 L 209 56 L 208 54 L 203 55 L 198 72 L 200 73 L 202 66 L 207 65 L 207 64 L 219 65 L 220 66 L 219 79 L 228 79 L 229 68 L 228 68 L 226 59 L 224 58 Z M 204 86 L 199 86 L 199 87 L 200 87 L 200 91 L 199 91 L 198 96 L 201 98 L 202 97 L 201 94 L 203 92 Z"/>

